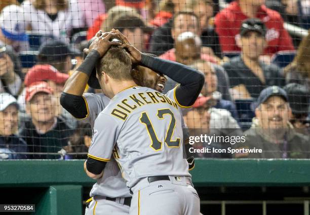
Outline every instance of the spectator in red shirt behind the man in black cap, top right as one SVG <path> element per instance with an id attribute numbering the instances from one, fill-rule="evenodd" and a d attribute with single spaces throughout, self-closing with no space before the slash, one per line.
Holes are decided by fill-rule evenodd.
<path id="1" fill-rule="evenodd" d="M 240 51 L 236 37 L 239 37 L 241 23 L 248 18 L 258 18 L 267 27 L 264 55 L 294 50 L 292 38 L 283 27 L 281 15 L 266 8 L 264 3 L 265 0 L 237 0 L 215 16 L 215 30 L 223 53 Z"/>

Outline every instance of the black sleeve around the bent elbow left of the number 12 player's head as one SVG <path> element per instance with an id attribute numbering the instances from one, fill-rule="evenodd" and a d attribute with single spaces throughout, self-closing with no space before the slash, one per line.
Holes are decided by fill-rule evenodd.
<path id="1" fill-rule="evenodd" d="M 62 92 L 60 104 L 76 119 L 85 119 L 88 117 L 87 104 L 83 96 Z"/>

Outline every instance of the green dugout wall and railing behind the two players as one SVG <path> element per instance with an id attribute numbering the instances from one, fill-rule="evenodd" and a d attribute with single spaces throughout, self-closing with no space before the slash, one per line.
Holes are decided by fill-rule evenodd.
<path id="1" fill-rule="evenodd" d="M 0 204 L 35 204 L 35 213 L 18 214 L 83 214 L 95 183 L 83 163 L 0 161 Z M 309 214 L 310 160 L 197 159 L 191 174 L 205 214 Z"/>

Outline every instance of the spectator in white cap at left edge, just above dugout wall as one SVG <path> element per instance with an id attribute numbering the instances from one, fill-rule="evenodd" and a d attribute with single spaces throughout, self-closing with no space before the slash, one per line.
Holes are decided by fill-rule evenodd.
<path id="1" fill-rule="evenodd" d="M 26 142 L 17 135 L 18 104 L 9 93 L 0 93 L 0 160 L 26 159 Z"/>

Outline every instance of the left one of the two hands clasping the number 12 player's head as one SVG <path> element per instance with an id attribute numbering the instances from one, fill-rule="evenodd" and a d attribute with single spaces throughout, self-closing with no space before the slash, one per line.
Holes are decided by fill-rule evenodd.
<path id="1" fill-rule="evenodd" d="M 110 41 L 110 39 L 113 37 L 118 37 L 118 34 L 111 31 L 102 33 L 102 31 L 99 30 L 96 33 L 95 40 L 89 46 L 89 49 L 84 49 L 84 53 L 88 54 L 91 50 L 96 50 L 97 52 L 99 52 L 100 57 L 102 57 L 111 46 L 122 45 L 122 43 L 120 42 Z"/>

